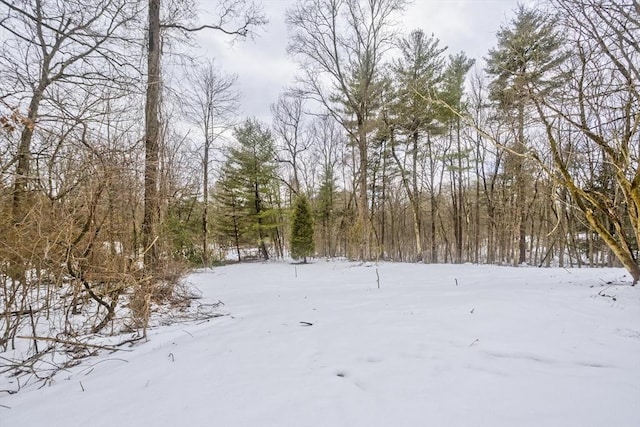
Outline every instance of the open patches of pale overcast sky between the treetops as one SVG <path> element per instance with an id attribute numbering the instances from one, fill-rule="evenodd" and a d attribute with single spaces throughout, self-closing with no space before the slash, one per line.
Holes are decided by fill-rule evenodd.
<path id="1" fill-rule="evenodd" d="M 202 0 L 202 6 L 214 0 Z M 296 63 L 287 55 L 285 10 L 296 0 L 263 0 L 269 24 L 255 40 L 234 45 L 218 32 L 200 35 L 201 54 L 215 58 L 226 73 L 238 76 L 241 114 L 271 122 L 269 106 L 292 84 Z M 421 28 L 434 33 L 448 53 L 465 51 L 483 66 L 483 57 L 495 45 L 496 31 L 513 15 L 517 0 L 414 0 L 401 18 L 403 33 Z M 522 2 L 521 2 L 522 3 Z M 528 3 L 528 2 L 524 2 Z"/>

